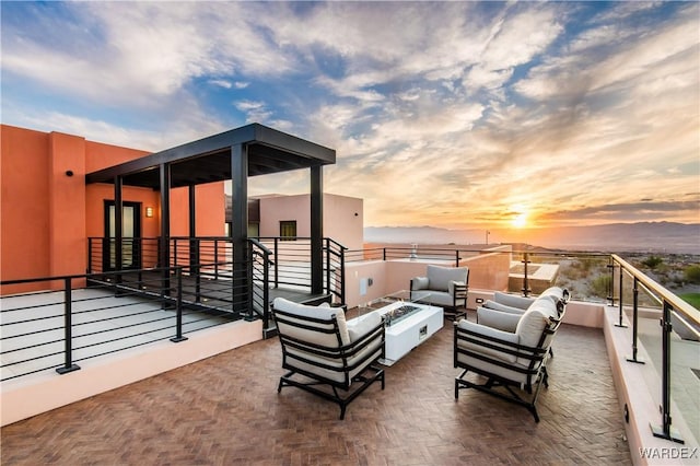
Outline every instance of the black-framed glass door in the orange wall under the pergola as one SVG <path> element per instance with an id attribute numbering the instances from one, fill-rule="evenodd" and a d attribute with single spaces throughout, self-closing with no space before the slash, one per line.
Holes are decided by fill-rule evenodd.
<path id="1" fill-rule="evenodd" d="M 105 200 L 105 242 L 103 255 L 104 270 L 141 268 L 141 203 L 122 202 L 121 219 L 121 267 L 116 267 L 115 205 Z"/>

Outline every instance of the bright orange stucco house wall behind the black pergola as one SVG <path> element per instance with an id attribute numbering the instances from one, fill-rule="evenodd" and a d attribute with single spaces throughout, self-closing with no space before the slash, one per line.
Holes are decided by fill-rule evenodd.
<path id="1" fill-rule="evenodd" d="M 85 185 L 85 174 L 148 152 L 59 132 L 0 130 L 0 279 L 84 273 L 88 238 L 104 236 L 105 200 L 114 199 L 113 185 Z M 223 235 L 223 183 L 200 185 L 196 196 L 197 235 Z M 141 203 L 141 236 L 159 236 L 160 193 L 125 187 L 122 199 Z M 171 235 L 188 235 L 187 189 L 171 191 Z M 37 287 L 3 287 L 1 293 L 31 289 Z"/>

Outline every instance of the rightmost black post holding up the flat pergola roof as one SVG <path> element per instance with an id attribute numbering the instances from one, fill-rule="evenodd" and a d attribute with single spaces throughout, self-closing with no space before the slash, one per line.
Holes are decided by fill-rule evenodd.
<path id="1" fill-rule="evenodd" d="M 311 292 L 324 290 L 324 179 L 323 166 L 311 167 Z"/>

